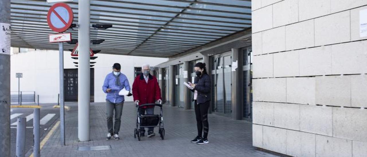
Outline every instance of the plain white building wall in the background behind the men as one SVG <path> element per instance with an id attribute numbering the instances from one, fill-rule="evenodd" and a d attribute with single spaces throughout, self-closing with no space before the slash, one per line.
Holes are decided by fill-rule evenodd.
<path id="1" fill-rule="evenodd" d="M 11 91 L 18 91 L 18 79 L 15 73 L 23 73 L 20 79 L 21 91 L 36 91 L 40 96 L 40 103 L 57 103 L 59 93 L 59 57 L 58 51 L 36 50 L 11 55 Z M 134 67 L 144 63 L 155 66 L 166 62 L 167 58 L 152 58 L 141 56 L 123 56 L 96 54 L 94 65 L 94 101 L 105 102 L 106 94 L 102 91 L 102 84 L 106 74 L 112 72 L 113 63 L 121 64 L 121 72 L 128 77 L 130 86 L 134 81 Z M 64 53 L 64 69 L 75 69 L 70 52 Z M 12 92 L 12 94 L 17 94 Z M 132 96 L 126 101 L 133 101 Z"/>

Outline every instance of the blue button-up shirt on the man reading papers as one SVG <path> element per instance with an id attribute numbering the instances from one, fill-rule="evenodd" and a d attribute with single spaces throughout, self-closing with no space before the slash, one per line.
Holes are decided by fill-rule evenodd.
<path id="1" fill-rule="evenodd" d="M 102 90 L 107 93 L 106 100 L 113 103 L 120 103 L 125 101 L 125 97 L 123 95 L 119 95 L 119 92 L 125 88 L 125 90 L 130 91 L 130 84 L 127 80 L 127 77 L 120 73 L 120 87 L 116 85 L 116 77 L 113 73 L 107 74 L 105 78 L 105 82 L 103 83 Z M 107 92 L 107 89 L 112 89 L 110 92 Z"/>

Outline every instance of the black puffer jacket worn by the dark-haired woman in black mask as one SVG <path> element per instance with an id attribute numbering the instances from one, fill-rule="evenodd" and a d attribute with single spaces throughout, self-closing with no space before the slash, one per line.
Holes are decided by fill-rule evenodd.
<path id="1" fill-rule="evenodd" d="M 203 76 L 195 77 L 195 90 L 197 90 L 197 103 L 204 103 L 210 101 L 210 91 L 211 91 L 211 81 L 208 74 L 203 74 Z M 195 92 L 195 90 L 191 90 Z M 194 99 L 192 99 L 194 101 Z"/>

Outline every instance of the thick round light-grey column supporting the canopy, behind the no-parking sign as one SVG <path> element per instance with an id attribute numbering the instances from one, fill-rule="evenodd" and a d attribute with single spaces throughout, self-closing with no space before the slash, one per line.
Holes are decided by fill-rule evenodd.
<path id="1" fill-rule="evenodd" d="M 78 138 L 90 140 L 90 1 L 79 1 Z"/>

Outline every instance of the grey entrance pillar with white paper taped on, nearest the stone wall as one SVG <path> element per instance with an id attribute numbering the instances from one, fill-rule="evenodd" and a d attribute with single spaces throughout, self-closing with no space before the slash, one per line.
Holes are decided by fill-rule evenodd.
<path id="1" fill-rule="evenodd" d="M 238 48 L 232 48 L 232 118 L 241 120 L 243 115 L 242 89 L 242 58 Z M 237 64 L 237 65 L 235 65 Z M 233 70 L 233 68 L 237 68 Z"/>

